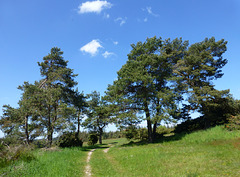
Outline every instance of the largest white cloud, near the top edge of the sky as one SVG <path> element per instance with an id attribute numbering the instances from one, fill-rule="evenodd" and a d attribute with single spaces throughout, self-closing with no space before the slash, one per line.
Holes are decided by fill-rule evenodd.
<path id="1" fill-rule="evenodd" d="M 100 13 L 103 9 L 110 9 L 112 4 L 107 1 L 87 1 L 78 6 L 78 13 Z"/>

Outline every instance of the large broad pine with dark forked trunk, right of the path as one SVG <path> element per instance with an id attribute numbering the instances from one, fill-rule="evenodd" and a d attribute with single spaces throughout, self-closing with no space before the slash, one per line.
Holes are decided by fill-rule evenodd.
<path id="1" fill-rule="evenodd" d="M 177 50 L 181 45 L 180 40 L 171 43 L 156 37 L 132 44 L 128 61 L 118 72 L 118 80 L 108 88 L 107 95 L 114 98 L 111 102 L 121 107 L 123 114 L 134 110 L 135 114 L 145 114 L 149 142 L 155 138 L 157 125 L 162 120 L 169 121 L 177 110 L 180 96 L 170 80 L 176 55 L 182 52 Z"/>

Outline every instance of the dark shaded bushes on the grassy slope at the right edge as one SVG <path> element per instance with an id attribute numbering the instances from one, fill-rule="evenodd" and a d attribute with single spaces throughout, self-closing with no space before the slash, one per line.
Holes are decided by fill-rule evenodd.
<path id="1" fill-rule="evenodd" d="M 212 93 L 214 99 L 209 99 L 204 103 L 202 102 L 204 115 L 178 124 L 175 128 L 176 133 L 190 133 L 222 124 L 225 124 L 229 130 L 234 128 L 238 129 L 240 115 L 239 100 L 234 100 L 227 91 L 214 92 L 215 93 Z"/>

